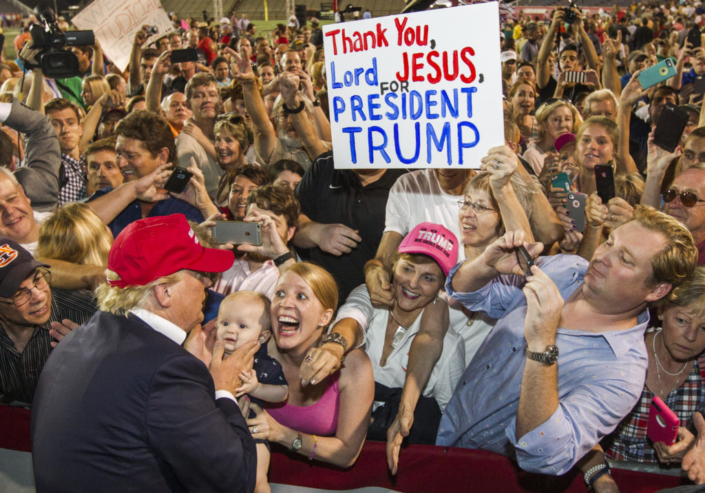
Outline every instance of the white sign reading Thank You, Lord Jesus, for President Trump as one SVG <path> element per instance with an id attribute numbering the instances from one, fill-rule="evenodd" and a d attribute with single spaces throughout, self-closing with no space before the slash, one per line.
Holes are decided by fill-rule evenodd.
<path id="1" fill-rule="evenodd" d="M 503 145 L 496 2 L 323 30 L 336 168 L 478 168 Z"/>

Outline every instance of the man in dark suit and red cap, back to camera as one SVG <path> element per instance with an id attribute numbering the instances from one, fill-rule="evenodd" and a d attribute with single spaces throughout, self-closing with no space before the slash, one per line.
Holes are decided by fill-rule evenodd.
<path id="1" fill-rule="evenodd" d="M 116 238 L 99 312 L 54 349 L 32 410 L 37 492 L 223 491 L 255 487 L 255 443 L 233 394 L 259 344 L 209 367 L 181 347 L 202 321 L 207 273 L 233 263 L 203 248 L 182 214 Z"/>

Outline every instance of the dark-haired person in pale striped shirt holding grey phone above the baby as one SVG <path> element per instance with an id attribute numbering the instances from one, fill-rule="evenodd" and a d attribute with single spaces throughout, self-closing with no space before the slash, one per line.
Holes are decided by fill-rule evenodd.
<path id="1" fill-rule="evenodd" d="M 296 231 L 299 212 L 299 202 L 288 187 L 264 185 L 252 190 L 245 221 L 262 224 L 262 246 L 240 245 L 238 250 L 246 251 L 245 255 L 221 274 L 214 290 L 224 295 L 257 291 L 274 298 L 280 270 L 296 262 L 288 243 Z"/>

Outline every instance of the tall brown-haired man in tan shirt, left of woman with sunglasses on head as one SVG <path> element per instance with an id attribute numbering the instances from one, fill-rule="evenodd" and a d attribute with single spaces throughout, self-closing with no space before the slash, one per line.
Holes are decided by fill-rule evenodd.
<path id="1" fill-rule="evenodd" d="M 208 195 L 214 198 L 223 174 L 215 160 L 213 135 L 220 106 L 218 81 L 209 73 L 197 73 L 186 85 L 186 100 L 192 117 L 185 122 L 183 132 L 176 138 L 178 165 L 188 168 L 191 159 L 194 159 L 203 172 Z M 205 146 L 212 152 L 206 152 Z"/>

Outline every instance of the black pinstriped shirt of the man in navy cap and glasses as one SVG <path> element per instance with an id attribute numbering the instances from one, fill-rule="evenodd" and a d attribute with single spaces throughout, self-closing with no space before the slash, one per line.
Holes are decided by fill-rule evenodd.
<path id="1" fill-rule="evenodd" d="M 31 403 L 44 363 L 51 353 L 51 322 L 70 319 L 82 324 L 97 310 L 92 292 L 51 288 L 49 320 L 36 325 L 22 353 L 17 351 L 7 331 L 0 324 L 0 402 Z"/>

